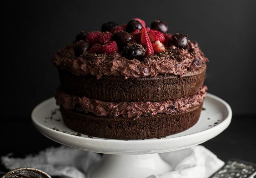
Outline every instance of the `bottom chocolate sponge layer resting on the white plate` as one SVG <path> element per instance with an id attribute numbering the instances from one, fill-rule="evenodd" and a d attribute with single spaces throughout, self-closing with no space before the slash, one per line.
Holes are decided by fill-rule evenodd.
<path id="1" fill-rule="evenodd" d="M 184 131 L 196 124 L 201 110 L 202 104 L 185 112 L 140 116 L 133 120 L 121 116 L 96 116 L 60 106 L 62 118 L 70 129 L 89 136 L 114 139 L 158 138 Z"/>

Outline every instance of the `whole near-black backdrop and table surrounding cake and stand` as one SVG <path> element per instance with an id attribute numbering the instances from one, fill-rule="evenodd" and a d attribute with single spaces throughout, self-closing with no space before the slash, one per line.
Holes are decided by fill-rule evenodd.
<path id="1" fill-rule="evenodd" d="M 256 1 L 5 1 L 1 12 L 0 135 L 5 146 L 0 155 L 24 156 L 59 145 L 30 121 L 32 109 L 52 97 L 59 84 L 52 56 L 81 30 L 139 17 L 148 26 L 159 19 L 168 23 L 170 33 L 188 34 L 210 59 L 209 93 L 226 100 L 234 117 L 226 131 L 204 146 L 224 161 L 256 160 Z"/>

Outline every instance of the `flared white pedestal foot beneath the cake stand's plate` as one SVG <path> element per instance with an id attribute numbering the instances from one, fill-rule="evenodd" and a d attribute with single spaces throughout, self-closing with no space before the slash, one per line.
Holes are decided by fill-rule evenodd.
<path id="1" fill-rule="evenodd" d="M 102 161 L 93 165 L 89 178 L 145 178 L 151 174 L 171 171 L 171 166 L 159 154 L 147 155 L 109 155 L 104 154 Z"/>

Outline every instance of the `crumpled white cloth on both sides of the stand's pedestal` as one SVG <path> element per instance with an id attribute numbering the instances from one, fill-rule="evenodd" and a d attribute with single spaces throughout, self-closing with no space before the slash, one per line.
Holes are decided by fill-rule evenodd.
<path id="1" fill-rule="evenodd" d="M 97 153 L 66 146 L 48 148 L 36 156 L 30 155 L 26 158 L 10 156 L 1 157 L 2 163 L 8 169 L 32 167 L 51 176 L 71 178 L 86 178 L 88 168 L 101 161 L 101 155 Z M 172 171 L 147 178 L 207 178 L 224 165 L 223 161 L 203 146 L 160 153 L 160 156 L 171 165 Z"/>

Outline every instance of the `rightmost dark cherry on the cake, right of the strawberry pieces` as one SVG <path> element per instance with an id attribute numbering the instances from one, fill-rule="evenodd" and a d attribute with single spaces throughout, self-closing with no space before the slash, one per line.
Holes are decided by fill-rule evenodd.
<path id="1" fill-rule="evenodd" d="M 178 48 L 183 48 L 186 49 L 188 47 L 188 36 L 180 34 L 180 33 L 175 33 L 173 36 L 168 41 L 168 46 L 176 46 Z"/>

